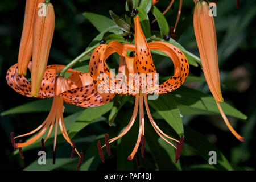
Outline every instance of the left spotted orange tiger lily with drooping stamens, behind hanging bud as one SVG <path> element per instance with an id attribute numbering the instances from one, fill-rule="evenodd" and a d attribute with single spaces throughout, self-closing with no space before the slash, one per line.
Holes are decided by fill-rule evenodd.
<path id="1" fill-rule="evenodd" d="M 34 143 L 36 140 L 41 138 L 43 134 L 46 133 L 46 131 L 49 129 L 46 139 L 42 140 L 42 147 L 43 147 L 43 144 L 48 139 L 55 125 L 55 137 L 54 137 L 54 144 L 53 144 L 53 163 L 55 163 L 57 130 L 59 125 L 61 133 L 63 134 L 63 137 L 72 146 L 71 158 L 73 158 L 73 153 L 74 151 L 76 151 L 77 155 L 79 155 L 80 157 L 80 161 L 79 161 L 79 166 L 80 166 L 81 161 L 83 159 L 83 154 L 82 152 L 79 153 L 77 151 L 77 149 L 75 148 L 75 143 L 71 142 L 71 139 L 68 137 L 68 133 L 64 125 L 63 102 L 65 101 L 65 102 L 68 102 L 69 104 L 79 105 L 82 107 L 92 107 L 93 105 L 90 104 L 91 100 L 94 105 L 106 104 L 108 100 L 106 101 L 104 97 L 101 97 L 100 94 L 97 94 L 96 92 L 93 91 L 95 90 L 95 88 L 94 88 L 93 80 L 90 77 L 89 73 L 82 73 L 79 71 L 68 69 L 67 72 L 72 73 L 72 75 L 69 76 L 68 78 L 57 76 L 56 73 L 59 73 L 64 67 L 65 67 L 64 65 L 49 65 L 47 66 L 46 72 L 44 73 L 38 98 L 53 97 L 51 111 L 49 112 L 46 120 L 38 128 L 36 128 L 35 130 L 27 134 L 19 135 L 14 138 L 12 133 L 11 141 L 13 143 L 14 148 L 19 148 L 19 150 L 21 151 L 22 147 L 28 146 Z M 31 68 L 31 62 L 28 65 L 28 68 Z M 6 74 L 7 84 L 19 94 L 22 94 L 27 97 L 32 97 L 30 95 L 31 83 L 24 76 L 18 76 L 17 72 L 18 72 L 17 64 L 13 65 L 7 71 L 7 74 Z M 82 98 L 78 97 L 76 92 L 81 92 L 81 90 L 84 88 L 88 89 L 88 90 L 84 90 L 84 97 Z M 86 97 L 88 99 L 85 99 Z M 101 100 L 102 102 L 100 103 L 94 102 L 96 97 L 98 98 L 98 100 Z M 14 141 L 17 138 L 25 137 L 27 135 L 31 135 L 34 133 L 36 133 L 34 137 L 28 139 L 27 142 L 15 143 Z M 79 166 L 77 167 L 77 169 L 79 169 Z"/>

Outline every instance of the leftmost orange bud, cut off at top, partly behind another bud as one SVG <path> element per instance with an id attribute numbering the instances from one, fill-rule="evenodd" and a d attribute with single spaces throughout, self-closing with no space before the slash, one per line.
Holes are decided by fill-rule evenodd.
<path id="1" fill-rule="evenodd" d="M 22 30 L 22 38 L 19 46 L 18 75 L 27 74 L 27 66 L 32 56 L 32 37 L 36 10 L 39 3 L 44 0 L 27 0 Z"/>

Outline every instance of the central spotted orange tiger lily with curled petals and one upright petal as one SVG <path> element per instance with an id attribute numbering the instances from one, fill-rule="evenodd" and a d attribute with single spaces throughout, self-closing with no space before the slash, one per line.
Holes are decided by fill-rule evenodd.
<path id="1" fill-rule="evenodd" d="M 165 81 L 163 84 L 158 85 L 156 83 L 156 80 L 158 81 L 158 77 L 156 76 L 156 69 L 155 65 L 153 63 L 150 50 L 156 49 L 159 51 L 163 51 L 168 56 L 171 57 L 172 61 L 174 62 L 174 76 L 172 76 L 170 79 Z M 127 56 L 127 51 L 135 51 L 135 56 L 130 57 Z M 112 72 L 110 72 L 107 64 L 106 59 L 114 53 L 117 52 L 120 56 L 125 58 L 126 61 L 126 74 L 134 74 L 139 75 L 139 83 L 136 82 L 137 78 L 131 78 L 131 84 L 129 80 L 129 85 L 125 84 L 123 82 L 123 78 L 118 77 L 116 80 L 113 80 L 112 78 Z M 102 152 L 102 148 L 106 146 L 106 149 L 108 151 L 108 154 L 110 155 L 110 147 L 109 144 L 117 140 L 118 138 L 121 138 L 123 135 L 125 135 L 133 126 L 135 122 L 135 118 L 137 117 L 137 113 L 139 110 L 139 133 L 138 133 L 138 139 L 135 144 L 135 147 L 131 154 L 128 156 L 129 160 L 132 160 L 135 156 L 135 154 L 138 151 L 139 144 L 141 143 L 141 151 L 142 156 L 144 156 L 144 142 L 145 142 L 145 135 L 144 135 L 144 106 L 146 107 L 146 113 L 148 115 L 148 118 L 154 127 L 156 133 L 164 139 L 167 143 L 171 144 L 176 148 L 176 162 L 181 154 L 182 144 L 183 144 L 183 136 L 181 137 L 180 141 L 176 140 L 167 134 L 165 134 L 160 128 L 156 125 L 154 119 L 152 118 L 152 115 L 150 113 L 150 109 L 148 107 L 147 102 L 147 95 L 150 93 L 157 93 L 157 94 L 163 94 L 172 92 L 173 90 L 179 88 L 183 82 L 185 81 L 185 78 L 188 76 L 189 72 L 189 64 L 187 61 L 187 58 L 183 54 L 183 52 L 180 51 L 179 48 L 173 46 L 170 43 L 167 42 L 151 42 L 147 43 L 143 31 L 141 29 L 141 24 L 139 23 L 139 17 L 137 16 L 135 18 L 135 45 L 133 44 L 121 44 L 117 41 L 110 42 L 109 44 L 101 44 L 96 49 L 94 49 L 92 56 L 90 58 L 89 63 L 89 72 L 90 75 L 93 78 L 93 81 L 96 85 L 100 85 L 104 87 L 105 93 L 113 93 L 114 94 L 130 94 L 132 96 L 135 96 L 135 105 L 134 105 L 134 111 L 133 115 L 130 119 L 130 122 L 126 126 L 125 130 L 122 131 L 121 134 L 119 134 L 117 137 L 114 137 L 112 139 L 108 139 L 108 135 L 105 135 L 105 145 L 101 147 L 100 141 L 98 141 L 98 151 L 100 154 L 100 158 L 102 162 L 104 162 L 104 156 Z M 101 74 L 105 74 L 104 80 L 100 79 Z M 145 75 L 145 77 L 143 77 Z M 130 76 L 129 76 L 130 77 Z M 110 80 L 108 79 L 110 78 Z M 145 78 L 145 79 L 144 79 Z M 144 84 L 144 80 L 148 80 L 147 84 Z M 130 78 L 129 78 L 130 79 Z M 154 86 L 150 84 L 150 82 L 154 82 Z M 102 84 L 102 82 L 104 84 Z M 139 88 L 139 92 L 133 92 L 134 90 L 134 82 L 135 86 L 137 85 Z M 110 88 L 106 85 L 110 85 Z M 150 86 L 151 85 L 151 86 Z M 99 87 L 98 87 L 99 88 Z M 114 88 L 114 89 L 113 89 Z M 117 89 L 119 88 L 119 89 Z M 144 90 L 146 88 L 146 91 Z M 130 92 L 132 91 L 132 92 Z M 144 92 L 145 91 L 145 92 Z M 168 139 L 173 140 L 177 143 L 177 147 L 171 143 Z"/>

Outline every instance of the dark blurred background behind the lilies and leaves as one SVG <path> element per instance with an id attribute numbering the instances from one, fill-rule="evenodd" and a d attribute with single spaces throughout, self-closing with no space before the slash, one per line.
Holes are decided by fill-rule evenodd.
<path id="1" fill-rule="evenodd" d="M 219 1 L 217 8 L 216 28 L 218 39 L 218 53 L 220 61 L 220 74 L 222 94 L 225 101 L 248 116 L 247 121 L 237 121 L 229 118 L 236 126 L 238 133 L 246 137 L 246 142 L 238 142 L 228 129 L 220 116 L 204 116 L 184 118 L 183 122 L 204 134 L 221 150 L 235 169 L 253 169 L 255 166 L 255 47 L 256 47 L 256 20 L 255 1 L 240 1 L 236 9 L 236 1 Z M 109 10 L 118 15 L 125 14 L 125 1 L 84 1 L 84 0 L 58 0 L 51 1 L 55 7 L 56 25 L 53 36 L 49 64 L 67 64 L 78 56 L 92 39 L 98 35 L 97 30 L 89 23 L 82 13 L 92 13 L 109 16 Z M 168 5 L 168 1 L 160 1 L 156 6 L 160 10 Z M 174 3 L 174 10 L 165 16 L 170 26 L 174 26 L 178 1 Z M 219 4 L 217 4 L 219 5 Z M 20 36 L 22 34 L 25 1 L 1 0 L 0 2 L 0 82 L 1 101 L 0 112 L 12 107 L 32 101 L 15 93 L 5 81 L 6 71 L 18 59 Z M 181 12 L 181 22 L 176 31 L 178 42 L 186 49 L 199 55 L 196 47 L 192 27 L 193 1 L 185 1 Z M 150 18 L 152 16 L 150 15 Z M 190 23 L 183 29 L 191 18 Z M 157 29 L 157 24 L 152 29 Z M 167 75 L 164 64 L 158 69 Z M 201 68 L 191 66 L 191 75 L 201 76 Z M 207 85 L 197 82 L 191 84 L 194 88 L 209 92 Z M 19 159 L 12 154 L 13 147 L 10 142 L 10 132 L 25 133 L 38 126 L 46 113 L 13 114 L 0 117 L 1 138 L 1 168 L 22 169 L 34 159 Z M 28 155 L 29 152 L 26 153 Z M 191 163 L 195 159 L 187 159 Z M 108 166 L 105 166 L 108 168 Z M 111 167 L 111 165 L 110 165 Z"/>

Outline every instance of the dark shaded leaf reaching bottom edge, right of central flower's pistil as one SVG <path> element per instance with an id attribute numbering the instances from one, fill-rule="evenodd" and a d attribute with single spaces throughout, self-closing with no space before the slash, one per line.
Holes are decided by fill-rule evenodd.
<path id="1" fill-rule="evenodd" d="M 175 148 L 160 138 L 148 122 L 145 122 L 145 139 L 159 170 L 180 170 L 180 163 L 175 164 Z"/>

